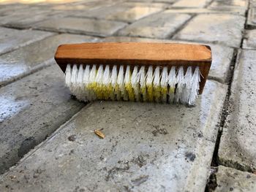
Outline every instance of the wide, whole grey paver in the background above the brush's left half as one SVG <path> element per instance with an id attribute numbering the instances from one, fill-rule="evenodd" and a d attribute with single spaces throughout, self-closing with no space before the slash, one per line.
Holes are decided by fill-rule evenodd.
<path id="1" fill-rule="evenodd" d="M 68 32 L 74 34 L 88 34 L 99 37 L 110 36 L 126 23 L 111 20 L 95 20 L 89 18 L 53 18 L 37 23 L 34 28 L 43 30 Z"/>

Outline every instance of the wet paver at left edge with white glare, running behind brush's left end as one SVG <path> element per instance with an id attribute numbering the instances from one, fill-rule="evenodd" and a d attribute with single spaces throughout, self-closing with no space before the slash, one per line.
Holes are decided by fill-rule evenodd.
<path id="1" fill-rule="evenodd" d="M 95 42 L 94 37 L 60 34 L 0 55 L 0 85 L 52 64 L 56 48 L 64 43 Z"/>

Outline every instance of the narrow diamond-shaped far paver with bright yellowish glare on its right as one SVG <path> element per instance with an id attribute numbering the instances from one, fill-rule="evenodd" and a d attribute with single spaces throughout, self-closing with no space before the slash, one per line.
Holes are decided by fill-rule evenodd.
<path id="1" fill-rule="evenodd" d="M 89 10 L 87 12 L 72 12 L 72 17 L 99 18 L 132 23 L 135 20 L 160 12 L 161 10 L 161 7 L 151 5 L 136 6 L 136 4 L 116 4 L 110 7 Z"/>

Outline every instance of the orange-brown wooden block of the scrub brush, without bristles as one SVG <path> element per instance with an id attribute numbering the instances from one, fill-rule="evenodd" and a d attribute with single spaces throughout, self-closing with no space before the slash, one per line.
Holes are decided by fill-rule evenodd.
<path id="1" fill-rule="evenodd" d="M 211 66 L 211 48 L 206 45 L 97 42 L 60 45 L 55 60 L 65 71 L 67 64 L 103 64 L 129 66 L 199 66 L 202 78 L 200 93 Z"/>

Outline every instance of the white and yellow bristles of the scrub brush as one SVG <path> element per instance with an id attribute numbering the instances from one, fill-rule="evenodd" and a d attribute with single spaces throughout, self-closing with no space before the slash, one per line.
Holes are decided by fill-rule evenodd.
<path id="1" fill-rule="evenodd" d="M 191 66 L 184 72 L 183 66 L 168 67 L 128 65 L 67 65 L 65 82 L 80 101 L 124 100 L 161 101 L 195 104 L 199 91 L 200 70 Z M 177 72 L 178 70 L 178 72 Z M 185 74 L 184 74 L 185 73 Z"/>

